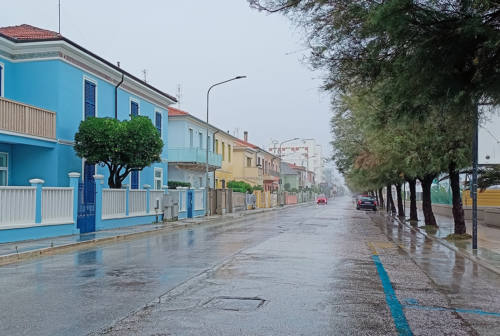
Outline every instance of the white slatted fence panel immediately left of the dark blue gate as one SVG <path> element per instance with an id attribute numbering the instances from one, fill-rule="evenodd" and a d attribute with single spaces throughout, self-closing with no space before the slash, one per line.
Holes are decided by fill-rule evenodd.
<path id="1" fill-rule="evenodd" d="M 73 188 L 42 188 L 42 223 L 73 222 Z"/>

